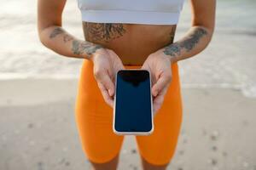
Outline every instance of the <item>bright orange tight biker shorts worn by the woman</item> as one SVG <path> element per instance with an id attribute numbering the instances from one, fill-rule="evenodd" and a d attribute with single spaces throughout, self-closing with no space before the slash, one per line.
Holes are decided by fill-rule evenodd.
<path id="1" fill-rule="evenodd" d="M 113 133 L 113 108 L 105 103 L 93 74 L 93 62 L 84 59 L 75 106 L 75 120 L 85 156 L 93 162 L 111 161 L 119 154 L 123 139 Z M 140 68 L 125 65 L 125 68 Z M 177 62 L 172 68 L 172 82 L 164 103 L 154 116 L 154 132 L 135 136 L 138 152 L 154 165 L 169 163 L 175 152 L 182 122 L 182 96 Z"/>

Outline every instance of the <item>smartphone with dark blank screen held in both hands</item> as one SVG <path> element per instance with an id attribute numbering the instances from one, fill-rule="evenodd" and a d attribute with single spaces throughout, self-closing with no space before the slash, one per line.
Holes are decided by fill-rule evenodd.
<path id="1" fill-rule="evenodd" d="M 154 131 L 151 77 L 147 70 L 119 70 L 115 78 L 113 132 L 149 135 Z"/>

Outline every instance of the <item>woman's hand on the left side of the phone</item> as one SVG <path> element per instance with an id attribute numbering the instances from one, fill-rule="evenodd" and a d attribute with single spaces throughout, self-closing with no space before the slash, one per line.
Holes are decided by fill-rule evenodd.
<path id="1" fill-rule="evenodd" d="M 119 56 L 111 49 L 100 48 L 91 55 L 93 61 L 94 77 L 106 103 L 113 107 L 115 74 L 120 69 L 125 69 Z"/>

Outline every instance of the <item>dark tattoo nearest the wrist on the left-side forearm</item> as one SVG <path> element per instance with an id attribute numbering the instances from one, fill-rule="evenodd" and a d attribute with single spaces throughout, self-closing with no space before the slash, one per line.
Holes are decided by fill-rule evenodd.
<path id="1" fill-rule="evenodd" d="M 91 42 L 80 42 L 78 40 L 73 40 L 72 43 L 72 51 L 73 54 L 94 54 L 97 49 L 103 48 L 102 45 L 95 44 L 93 45 Z"/>

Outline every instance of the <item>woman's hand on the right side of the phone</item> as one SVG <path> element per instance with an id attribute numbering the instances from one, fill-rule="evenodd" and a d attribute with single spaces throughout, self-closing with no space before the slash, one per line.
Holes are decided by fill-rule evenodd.
<path id="1" fill-rule="evenodd" d="M 163 104 L 165 94 L 172 81 L 171 65 L 170 57 L 159 50 L 148 55 L 141 67 L 141 69 L 148 70 L 151 75 L 154 115 Z"/>

